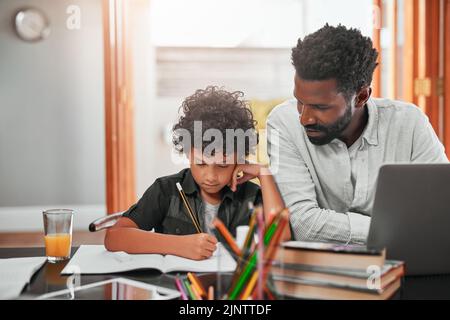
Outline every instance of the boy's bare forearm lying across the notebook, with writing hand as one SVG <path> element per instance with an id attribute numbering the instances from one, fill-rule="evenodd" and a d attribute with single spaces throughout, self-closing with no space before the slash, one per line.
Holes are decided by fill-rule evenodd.
<path id="1" fill-rule="evenodd" d="M 194 260 L 211 257 L 216 243 L 213 236 L 204 233 L 177 236 L 141 230 L 129 218 L 120 218 L 105 236 L 109 251 L 172 254 Z"/>

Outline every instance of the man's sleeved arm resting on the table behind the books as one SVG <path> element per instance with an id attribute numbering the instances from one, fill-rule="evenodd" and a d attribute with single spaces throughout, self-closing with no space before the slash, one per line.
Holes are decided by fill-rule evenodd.
<path id="1" fill-rule="evenodd" d="M 272 172 L 290 211 L 296 240 L 365 244 L 370 217 L 322 209 L 314 182 L 302 156 L 290 141 L 287 128 L 267 122 L 268 153 Z M 280 130 L 281 129 L 281 130 Z"/>

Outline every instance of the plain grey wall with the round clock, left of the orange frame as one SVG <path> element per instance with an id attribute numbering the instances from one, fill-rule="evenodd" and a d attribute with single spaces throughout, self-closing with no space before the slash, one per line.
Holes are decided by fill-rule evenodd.
<path id="1" fill-rule="evenodd" d="M 79 30 L 66 27 L 69 5 L 81 9 Z M 49 17 L 46 40 L 16 36 L 27 6 Z M 0 231 L 53 206 L 104 214 L 102 39 L 100 0 L 0 0 Z"/>

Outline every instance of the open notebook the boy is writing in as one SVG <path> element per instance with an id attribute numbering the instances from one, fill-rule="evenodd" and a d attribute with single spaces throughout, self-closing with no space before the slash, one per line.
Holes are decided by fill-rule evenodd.
<path id="1" fill-rule="evenodd" d="M 230 253 L 219 245 L 211 258 L 199 261 L 172 255 L 109 252 L 103 245 L 84 245 L 77 250 L 61 274 L 103 274 L 138 269 L 157 269 L 163 273 L 234 271 L 236 262 Z"/>

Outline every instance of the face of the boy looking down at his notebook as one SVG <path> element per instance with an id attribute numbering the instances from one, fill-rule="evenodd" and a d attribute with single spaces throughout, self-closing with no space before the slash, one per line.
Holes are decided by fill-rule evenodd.
<path id="1" fill-rule="evenodd" d="M 189 161 L 195 182 L 209 194 L 216 194 L 228 185 L 236 167 L 234 153 L 227 156 L 216 153 L 214 156 L 205 157 L 200 150 L 192 148 Z"/>

